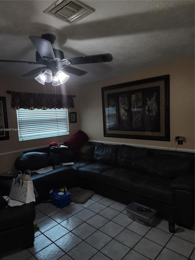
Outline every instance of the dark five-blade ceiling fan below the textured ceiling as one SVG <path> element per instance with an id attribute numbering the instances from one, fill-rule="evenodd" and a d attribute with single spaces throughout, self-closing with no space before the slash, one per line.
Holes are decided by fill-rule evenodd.
<path id="1" fill-rule="evenodd" d="M 0 62 L 21 62 L 21 63 L 44 65 L 31 70 L 30 72 L 22 75 L 22 77 L 32 76 L 45 69 L 51 70 L 53 77 L 56 76 L 56 73 L 59 70 L 62 72 L 68 72 L 74 74 L 76 76 L 82 76 L 86 74 L 87 71 L 77 69 L 75 67 L 72 67 L 72 65 L 112 61 L 112 55 L 109 53 L 73 57 L 73 58 L 64 58 L 64 53 L 62 51 L 52 48 L 52 44 L 56 39 L 55 35 L 53 34 L 42 34 L 41 37 L 29 36 L 29 39 L 37 49 L 36 62 L 18 61 L 18 60 L 0 60 Z"/>

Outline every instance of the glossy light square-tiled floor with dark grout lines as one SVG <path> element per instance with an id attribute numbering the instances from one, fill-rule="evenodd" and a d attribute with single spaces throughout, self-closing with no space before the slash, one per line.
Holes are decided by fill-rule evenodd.
<path id="1" fill-rule="evenodd" d="M 151 226 L 129 219 L 126 205 L 98 194 L 85 204 L 65 208 L 36 206 L 33 248 L 15 250 L 1 260 L 195 260 L 194 228 L 176 226 L 156 216 Z"/>

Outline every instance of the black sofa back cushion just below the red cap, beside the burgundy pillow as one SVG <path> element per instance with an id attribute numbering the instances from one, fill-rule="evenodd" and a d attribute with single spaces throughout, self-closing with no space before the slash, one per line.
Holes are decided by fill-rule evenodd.
<path id="1" fill-rule="evenodd" d="M 69 148 L 59 146 L 51 146 L 49 153 L 53 157 L 54 165 L 59 165 L 63 162 L 73 162 L 75 154 Z"/>

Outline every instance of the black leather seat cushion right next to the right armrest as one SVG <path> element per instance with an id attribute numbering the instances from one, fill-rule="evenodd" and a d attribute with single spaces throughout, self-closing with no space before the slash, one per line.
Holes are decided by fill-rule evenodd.
<path id="1" fill-rule="evenodd" d="M 160 176 L 143 175 L 134 180 L 131 184 L 131 191 L 134 194 L 160 201 L 166 204 L 173 204 L 173 190 L 170 187 L 172 180 Z"/>

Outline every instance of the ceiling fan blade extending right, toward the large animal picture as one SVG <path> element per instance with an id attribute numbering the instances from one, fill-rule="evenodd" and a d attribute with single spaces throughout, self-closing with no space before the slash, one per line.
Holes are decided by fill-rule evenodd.
<path id="1" fill-rule="evenodd" d="M 62 59 L 62 62 L 66 61 L 66 60 L 69 60 L 71 62 L 71 65 L 96 63 L 96 62 L 108 62 L 108 61 L 112 61 L 112 55 L 109 53 L 88 55 L 88 56 L 82 56 L 82 57 Z"/>

